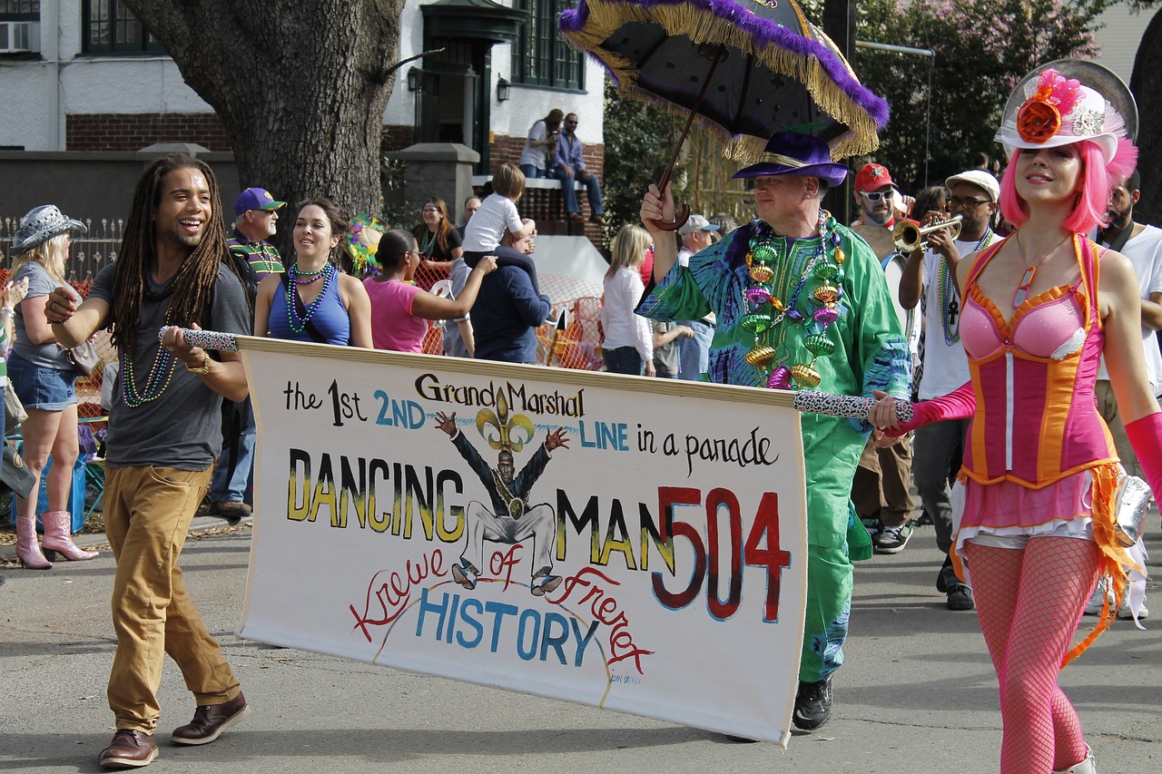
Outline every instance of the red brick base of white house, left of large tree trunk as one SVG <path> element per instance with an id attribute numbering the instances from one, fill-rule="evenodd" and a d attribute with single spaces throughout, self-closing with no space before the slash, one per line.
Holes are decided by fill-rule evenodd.
<path id="1" fill-rule="evenodd" d="M 231 150 L 213 113 L 74 113 L 65 119 L 65 143 L 70 151 L 136 151 L 155 143 Z"/>

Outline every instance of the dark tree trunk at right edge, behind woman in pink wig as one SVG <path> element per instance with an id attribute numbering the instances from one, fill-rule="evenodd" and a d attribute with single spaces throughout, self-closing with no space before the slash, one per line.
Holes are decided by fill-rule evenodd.
<path id="1" fill-rule="evenodd" d="M 1155 192 L 1134 205 L 1139 223 L 1162 223 L 1162 79 L 1154 72 L 1157 50 L 1162 45 L 1162 10 L 1154 14 L 1134 57 L 1134 74 L 1129 91 L 1138 100 L 1138 169 L 1142 191 Z"/>

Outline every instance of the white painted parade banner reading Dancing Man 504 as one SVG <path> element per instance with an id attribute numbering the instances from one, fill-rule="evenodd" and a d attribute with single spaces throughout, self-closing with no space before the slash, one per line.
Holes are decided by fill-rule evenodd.
<path id="1" fill-rule="evenodd" d="M 786 746 L 790 394 L 237 341 L 259 433 L 242 637 Z"/>

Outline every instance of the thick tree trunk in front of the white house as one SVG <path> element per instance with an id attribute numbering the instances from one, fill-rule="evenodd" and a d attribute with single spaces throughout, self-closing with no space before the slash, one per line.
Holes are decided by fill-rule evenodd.
<path id="1" fill-rule="evenodd" d="M 325 194 L 351 213 L 380 213 L 380 137 L 403 0 L 124 5 L 217 113 L 242 186 L 292 207 Z"/>

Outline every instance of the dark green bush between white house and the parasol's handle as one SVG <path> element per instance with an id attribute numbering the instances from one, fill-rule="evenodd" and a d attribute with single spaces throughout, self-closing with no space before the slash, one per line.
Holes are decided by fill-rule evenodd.
<path id="1" fill-rule="evenodd" d="M 682 131 L 682 121 L 661 108 L 637 99 L 621 96 L 605 81 L 605 235 L 625 223 L 638 223 L 641 195 L 651 182 L 661 179 L 674 153 L 674 143 Z M 686 193 L 682 164 L 674 170 L 674 195 Z"/>

